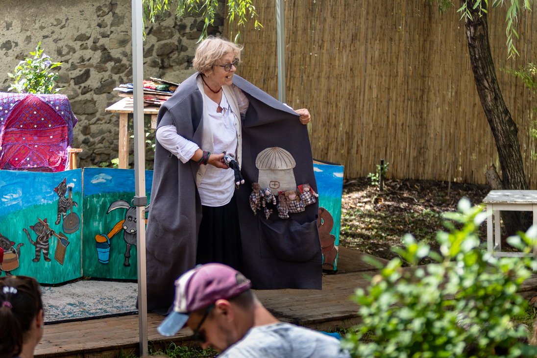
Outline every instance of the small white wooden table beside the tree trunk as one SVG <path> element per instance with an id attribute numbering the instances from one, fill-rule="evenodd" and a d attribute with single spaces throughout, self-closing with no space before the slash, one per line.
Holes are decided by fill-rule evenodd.
<path id="1" fill-rule="evenodd" d="M 500 211 L 533 211 L 533 225 L 537 224 L 537 191 L 535 190 L 492 190 L 483 199 L 487 204 L 487 249 L 495 257 L 525 257 L 532 254 L 502 252 L 500 236 Z M 494 212 L 494 227 L 492 214 Z M 537 257 L 537 246 L 533 248 Z"/>

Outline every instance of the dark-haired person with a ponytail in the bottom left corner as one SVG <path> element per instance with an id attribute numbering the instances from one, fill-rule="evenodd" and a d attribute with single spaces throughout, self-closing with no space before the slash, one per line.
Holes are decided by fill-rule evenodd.
<path id="1" fill-rule="evenodd" d="M 0 358 L 32 358 L 43 335 L 43 304 L 33 277 L 0 277 Z"/>

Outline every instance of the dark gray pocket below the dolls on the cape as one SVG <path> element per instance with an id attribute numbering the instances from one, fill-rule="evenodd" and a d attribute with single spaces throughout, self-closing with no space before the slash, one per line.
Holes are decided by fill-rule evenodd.
<path id="1" fill-rule="evenodd" d="M 261 257 L 292 262 L 320 261 L 317 231 L 316 221 L 300 224 L 291 218 L 272 222 L 259 217 Z"/>

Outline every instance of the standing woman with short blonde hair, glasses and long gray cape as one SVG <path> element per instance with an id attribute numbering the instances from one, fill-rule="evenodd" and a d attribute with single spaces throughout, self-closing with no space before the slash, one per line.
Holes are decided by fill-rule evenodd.
<path id="1" fill-rule="evenodd" d="M 246 227 L 258 226 L 251 221 L 251 211 L 241 214 L 249 207 L 248 188 L 257 181 L 252 162 L 259 149 L 278 145 L 302 153 L 308 162 L 304 165 L 307 180 L 309 184 L 315 181 L 304 126 L 311 119 L 308 110 L 293 111 L 235 75 L 241 50 L 220 38 L 201 42 L 193 61 L 198 73 L 186 79 L 159 111 L 147 224 L 150 310 L 166 311 L 173 298 L 173 280 L 196 264 L 221 262 L 248 273 L 251 255 L 263 257 L 250 252 L 259 250 L 250 250 L 248 244 L 259 239 L 244 236 Z M 246 179 L 238 189 L 234 171 L 223 160 L 224 152 L 234 156 Z M 314 221 L 314 217 L 310 213 L 302 221 Z M 312 233 L 310 227 L 307 231 Z M 311 237 L 309 243 L 318 246 L 318 233 Z M 277 258 L 272 261 L 278 265 Z M 250 276 L 255 284 L 259 275 Z M 261 281 L 259 287 L 281 286 Z M 304 288 L 320 286 L 317 280 L 314 284 L 307 281 Z M 301 284 L 283 286 L 299 288 Z"/>

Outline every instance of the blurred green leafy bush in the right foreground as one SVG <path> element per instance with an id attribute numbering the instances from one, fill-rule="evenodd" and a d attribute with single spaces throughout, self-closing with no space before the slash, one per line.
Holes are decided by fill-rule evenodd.
<path id="1" fill-rule="evenodd" d="M 404 238 L 398 254 L 413 266 L 403 270 L 395 258 L 371 280 L 367 293 L 357 289 L 362 324 L 347 334 L 342 346 L 367 357 L 518 357 L 535 356 L 537 348 L 520 341 L 524 326 L 513 317 L 523 312 L 521 283 L 537 268 L 531 258 L 494 258 L 480 250 L 476 235 L 486 213 L 459 202 L 458 213 L 444 217 L 451 233 L 439 232 L 440 254 L 429 245 Z M 531 252 L 537 228 L 509 238 L 520 251 Z M 429 256 L 436 264 L 416 267 Z M 372 262 L 374 263 L 374 262 Z M 378 264 L 377 264 L 378 265 Z M 380 268 L 380 267 L 379 267 Z M 366 340 L 361 340 L 366 335 Z"/>

